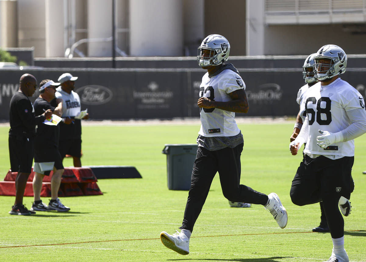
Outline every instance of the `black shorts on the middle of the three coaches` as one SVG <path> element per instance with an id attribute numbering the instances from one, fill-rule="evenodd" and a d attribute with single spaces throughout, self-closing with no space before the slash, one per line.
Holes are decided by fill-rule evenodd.
<path id="1" fill-rule="evenodd" d="M 53 143 L 37 141 L 34 145 L 34 163 L 55 162 L 56 170 L 64 169 L 59 150 Z"/>

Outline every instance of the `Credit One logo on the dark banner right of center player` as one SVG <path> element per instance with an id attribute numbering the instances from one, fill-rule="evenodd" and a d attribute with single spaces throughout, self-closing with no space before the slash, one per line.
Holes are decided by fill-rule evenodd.
<path id="1" fill-rule="evenodd" d="M 255 91 L 247 90 L 248 101 L 254 103 L 272 103 L 280 101 L 282 98 L 282 91 L 279 84 L 268 83 L 261 84 Z"/>

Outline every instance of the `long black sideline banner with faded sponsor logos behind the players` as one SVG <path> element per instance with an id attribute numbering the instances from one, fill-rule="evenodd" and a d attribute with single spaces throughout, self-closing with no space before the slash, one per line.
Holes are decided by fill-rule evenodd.
<path id="1" fill-rule="evenodd" d="M 238 69 L 246 84 L 249 112 L 238 116 L 296 116 L 297 92 L 304 80 L 301 69 Z M 90 119 L 170 119 L 197 117 L 203 69 L 44 69 L 0 70 L 0 120 L 9 120 L 9 103 L 19 78 L 31 73 L 38 83 L 57 81 L 70 72 L 78 76 L 75 92 Z M 365 70 L 347 69 L 341 75 L 365 97 Z M 33 102 L 38 91 L 31 98 Z"/>

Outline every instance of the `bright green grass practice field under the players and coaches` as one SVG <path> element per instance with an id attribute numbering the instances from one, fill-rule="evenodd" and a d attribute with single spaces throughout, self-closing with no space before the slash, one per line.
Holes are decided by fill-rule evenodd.
<path id="1" fill-rule="evenodd" d="M 319 204 L 298 207 L 291 181 L 302 159 L 288 150 L 294 121 L 239 124 L 244 135 L 241 182 L 276 192 L 288 211 L 280 229 L 261 205 L 230 208 L 214 178 L 190 240 L 187 256 L 161 244 L 161 231 L 181 225 L 188 191 L 168 190 L 164 144 L 195 143 L 198 124 L 83 126 L 83 165 L 132 165 L 142 179 L 100 179 L 102 196 L 64 197 L 70 212 L 8 214 L 14 198 L 0 196 L 0 261 L 238 261 L 322 262 L 332 251 L 329 233 L 313 233 Z M 0 179 L 10 167 L 8 127 L 0 127 Z M 352 212 L 344 217 L 351 262 L 366 261 L 366 136 L 356 139 Z M 64 165 L 71 166 L 65 159 Z M 190 175 L 190 174 L 188 174 Z M 2 176 L 2 177 L 1 177 Z M 48 199 L 42 199 L 46 204 Z M 31 207 L 33 197 L 25 197 Z"/>

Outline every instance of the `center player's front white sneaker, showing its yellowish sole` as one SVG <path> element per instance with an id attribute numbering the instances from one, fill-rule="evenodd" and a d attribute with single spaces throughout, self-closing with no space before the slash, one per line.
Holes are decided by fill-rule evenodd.
<path id="1" fill-rule="evenodd" d="M 189 254 L 189 239 L 183 233 L 180 234 L 177 231 L 173 235 L 169 235 L 167 232 L 163 231 L 160 233 L 160 240 L 165 247 L 170 248 L 179 254 Z"/>

